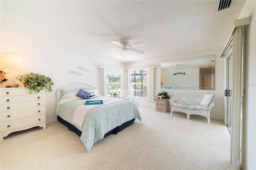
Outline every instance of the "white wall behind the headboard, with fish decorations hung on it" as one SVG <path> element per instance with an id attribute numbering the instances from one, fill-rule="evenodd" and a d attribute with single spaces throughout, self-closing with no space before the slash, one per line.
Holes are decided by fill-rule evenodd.
<path id="1" fill-rule="evenodd" d="M 71 82 L 87 82 L 91 86 L 100 89 L 100 68 L 98 66 L 107 65 L 116 68 L 124 68 L 123 63 L 98 59 L 89 54 L 77 54 L 72 51 L 52 49 L 30 43 L 8 39 L 1 35 L 1 55 L 2 53 L 15 53 L 20 56 L 24 65 L 24 73 L 40 73 L 52 78 L 54 86 L 52 92 L 46 93 L 46 122 L 55 121 L 56 90 L 66 86 Z M 76 69 L 78 66 L 84 67 L 90 72 L 82 72 Z M 68 74 L 69 71 L 77 71 L 83 76 Z M 7 83 L 7 82 L 6 82 Z M 19 83 L 17 81 L 16 83 Z M 23 84 L 21 85 L 23 86 Z M 5 84 L 2 84 L 5 87 Z M 99 90 L 100 91 L 100 90 Z"/>

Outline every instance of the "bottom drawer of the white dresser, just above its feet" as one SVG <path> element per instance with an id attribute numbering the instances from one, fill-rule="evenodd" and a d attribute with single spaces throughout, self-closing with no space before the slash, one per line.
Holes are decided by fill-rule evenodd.
<path id="1" fill-rule="evenodd" d="M 33 117 L 27 117 L 23 119 L 16 119 L 12 121 L 5 121 L 1 123 L 1 132 L 25 127 L 28 125 L 34 125 L 45 121 L 45 115 L 38 115 Z"/>

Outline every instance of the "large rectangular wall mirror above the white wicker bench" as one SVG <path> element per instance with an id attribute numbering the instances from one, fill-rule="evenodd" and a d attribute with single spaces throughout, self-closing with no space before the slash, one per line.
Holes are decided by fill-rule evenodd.
<path id="1" fill-rule="evenodd" d="M 161 62 L 161 88 L 164 88 L 164 89 L 215 90 L 215 63 L 216 63 L 215 55 Z M 180 68 L 178 68 L 178 67 L 180 67 Z M 181 78 L 181 76 L 185 75 L 182 72 L 182 69 L 184 70 L 184 72 L 186 70 L 186 72 L 188 72 L 188 74 L 191 73 L 190 69 L 195 69 L 195 73 L 198 77 L 196 76 L 195 79 L 191 79 L 191 76 L 187 77 L 187 78 L 190 79 L 191 81 L 192 80 L 196 81 L 196 79 L 197 79 L 197 81 L 199 81 L 198 82 L 199 87 L 182 86 L 182 85 L 172 86 L 171 83 L 164 84 L 165 80 L 167 80 L 168 77 L 172 77 L 172 79 L 174 78 L 172 73 L 167 74 L 167 75 L 166 75 L 166 73 L 163 73 L 163 72 L 166 72 L 167 69 L 168 70 L 176 70 L 177 73 L 182 73 L 179 76 L 177 76 L 178 74 L 173 74 L 173 75 L 175 75 L 175 78 L 178 78 L 178 77 Z M 194 73 L 194 70 L 192 72 Z M 202 82 L 204 82 L 204 75 L 209 74 L 209 73 L 211 74 L 210 77 L 212 78 L 212 80 L 210 82 L 211 87 L 202 87 L 202 86 L 204 86 L 204 84 L 202 83 Z M 182 79 L 184 79 L 184 77 L 182 77 Z M 180 80 L 180 81 L 187 81 L 187 80 Z M 195 83 L 197 84 L 197 82 L 195 82 Z"/>

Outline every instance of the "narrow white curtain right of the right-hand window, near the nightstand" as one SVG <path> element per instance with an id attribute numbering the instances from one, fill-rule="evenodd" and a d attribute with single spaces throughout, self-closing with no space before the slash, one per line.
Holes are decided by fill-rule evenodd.
<path id="1" fill-rule="evenodd" d="M 154 68 L 148 68 L 148 102 L 154 102 Z"/>

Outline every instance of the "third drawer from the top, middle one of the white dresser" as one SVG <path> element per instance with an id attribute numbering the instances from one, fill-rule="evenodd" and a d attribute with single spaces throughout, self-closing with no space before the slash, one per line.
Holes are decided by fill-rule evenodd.
<path id="1" fill-rule="evenodd" d="M 44 100 L 32 101 L 32 102 L 19 102 L 13 104 L 1 104 L 1 112 L 3 111 L 13 111 L 18 109 L 26 109 L 31 107 L 44 106 Z"/>

